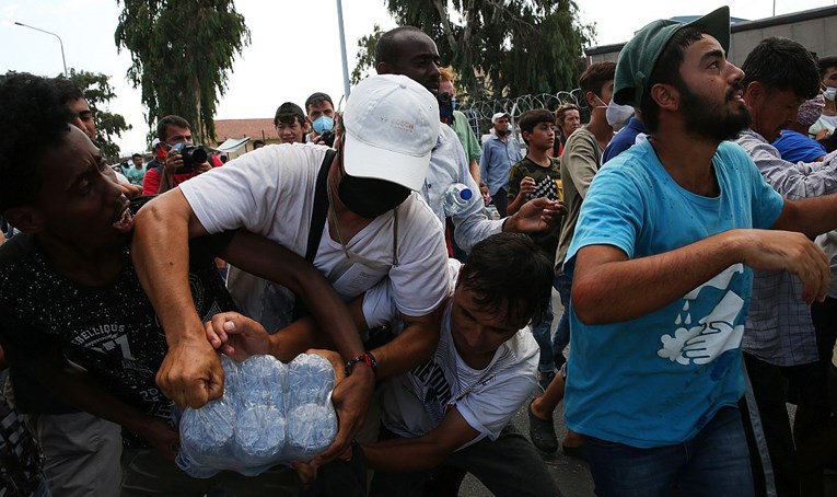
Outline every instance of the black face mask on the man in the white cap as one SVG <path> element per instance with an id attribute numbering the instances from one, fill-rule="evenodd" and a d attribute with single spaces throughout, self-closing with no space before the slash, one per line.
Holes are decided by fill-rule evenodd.
<path id="1" fill-rule="evenodd" d="M 398 207 L 410 189 L 384 180 L 344 175 L 337 195 L 352 212 L 361 218 L 374 219 Z"/>

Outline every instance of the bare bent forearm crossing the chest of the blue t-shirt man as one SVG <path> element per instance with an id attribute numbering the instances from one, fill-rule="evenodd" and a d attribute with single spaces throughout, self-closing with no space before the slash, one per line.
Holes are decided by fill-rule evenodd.
<path id="1" fill-rule="evenodd" d="M 730 230 L 635 259 L 613 245 L 584 246 L 576 255 L 572 307 L 586 324 L 632 320 L 682 298 L 737 263 L 795 274 L 807 302 L 822 299 L 830 280 L 825 254 L 803 234 Z"/>

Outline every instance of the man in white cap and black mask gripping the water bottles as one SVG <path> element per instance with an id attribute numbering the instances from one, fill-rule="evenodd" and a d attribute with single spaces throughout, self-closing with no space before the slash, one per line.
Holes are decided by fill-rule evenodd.
<path id="1" fill-rule="evenodd" d="M 163 391 L 193 407 L 222 394 L 218 356 L 189 303 L 186 243 L 246 229 L 307 255 L 346 299 L 384 278 L 392 282 L 404 332 L 371 352 L 359 336 L 335 344 L 354 372 L 335 390 L 335 403 L 348 392 L 357 411 L 348 413 L 353 418 L 341 417 L 338 441 L 321 459 L 345 449 L 360 427 L 375 378 L 420 365 L 439 339 L 446 250 L 438 219 L 412 192 L 427 174 L 439 125 L 439 106 L 423 86 L 402 76 L 371 77 L 347 103 L 334 159 L 324 160 L 329 149 L 311 143 L 265 147 L 182 184 L 139 212 L 137 273 L 170 344 L 158 373 Z M 264 286 L 254 287 L 237 303 L 272 332 L 265 324 L 271 320 L 265 315 L 269 296 Z"/>

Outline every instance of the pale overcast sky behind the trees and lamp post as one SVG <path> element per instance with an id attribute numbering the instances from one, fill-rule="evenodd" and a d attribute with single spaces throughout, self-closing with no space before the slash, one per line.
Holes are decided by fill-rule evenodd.
<path id="1" fill-rule="evenodd" d="M 748 20 L 826 7 L 835 0 L 577 0 L 583 22 L 596 24 L 596 45 L 626 42 L 655 20 L 701 15 L 729 4 L 733 16 Z M 235 0 L 252 34 L 251 45 L 233 63 L 229 89 L 217 119 L 272 117 L 282 102 L 302 105 L 311 93 L 324 91 L 337 102 L 344 94 L 336 0 Z M 641 7 L 640 7 L 641 5 Z M 357 39 L 374 23 L 395 27 L 383 0 L 344 0 L 349 72 Z M 116 0 L 3 0 L 0 5 L 0 73 L 9 70 L 57 76 L 62 71 L 58 39 L 16 26 L 15 21 L 58 34 L 68 68 L 111 77 L 117 99 L 111 111 L 124 115 L 133 129 L 117 143 L 123 154 L 146 150 L 143 107 L 139 90 L 125 78 L 130 66 L 126 51 L 117 54 L 114 31 L 120 7 Z M 199 53 L 194 54 L 200 57 Z"/>

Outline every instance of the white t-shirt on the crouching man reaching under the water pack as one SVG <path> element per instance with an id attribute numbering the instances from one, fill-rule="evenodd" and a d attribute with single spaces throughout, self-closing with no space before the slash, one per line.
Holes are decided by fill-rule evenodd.
<path id="1" fill-rule="evenodd" d="M 450 292 L 458 274 L 460 263 L 450 259 Z M 372 324 L 391 321 L 392 287 L 385 281 L 363 298 L 363 314 Z M 449 300 L 439 346 L 433 356 L 411 371 L 384 383 L 382 421 L 402 437 L 419 437 L 442 423 L 453 407 L 479 435 L 463 449 L 488 437 L 497 440 L 514 413 L 532 396 L 537 381 L 538 347 L 532 331 L 525 327 L 504 342 L 486 369 L 476 370 L 462 360 L 451 336 Z M 460 450 L 457 449 L 457 450 Z"/>

